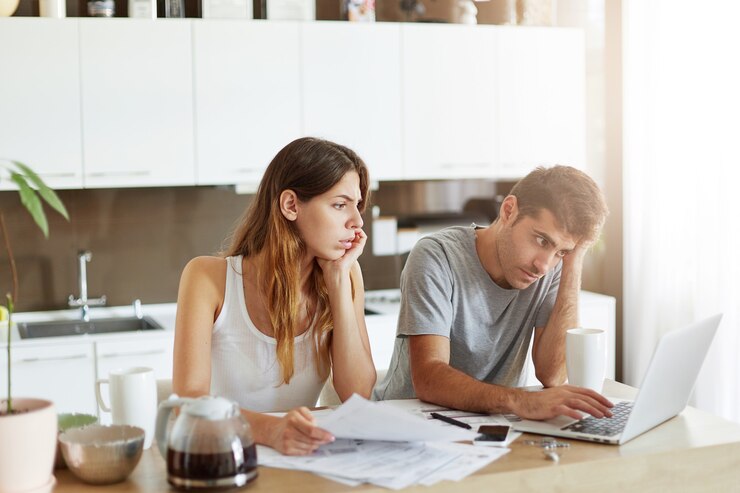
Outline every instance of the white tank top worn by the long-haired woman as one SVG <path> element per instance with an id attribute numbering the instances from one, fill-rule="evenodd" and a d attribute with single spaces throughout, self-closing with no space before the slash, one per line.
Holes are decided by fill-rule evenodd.
<path id="1" fill-rule="evenodd" d="M 211 395 L 257 412 L 315 406 L 324 379 L 316 372 L 311 330 L 294 340 L 294 373 L 281 379 L 277 341 L 252 323 L 244 301 L 242 256 L 226 259 L 226 292 L 211 337 Z"/>

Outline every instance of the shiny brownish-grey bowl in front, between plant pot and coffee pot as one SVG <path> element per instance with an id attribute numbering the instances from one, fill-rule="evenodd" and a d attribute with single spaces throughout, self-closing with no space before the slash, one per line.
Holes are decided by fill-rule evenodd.
<path id="1" fill-rule="evenodd" d="M 59 435 L 69 470 L 86 483 L 123 481 L 141 459 L 144 430 L 128 425 L 89 425 Z"/>

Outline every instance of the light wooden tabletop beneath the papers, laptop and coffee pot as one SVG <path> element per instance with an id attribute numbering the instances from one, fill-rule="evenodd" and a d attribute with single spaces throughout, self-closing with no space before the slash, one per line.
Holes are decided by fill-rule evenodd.
<path id="1" fill-rule="evenodd" d="M 605 393 L 631 398 L 635 389 L 607 382 Z M 541 449 L 524 445 L 525 434 L 512 451 L 462 483 L 444 481 L 409 492 L 624 492 L 624 491 L 736 491 L 740 492 L 740 425 L 686 408 L 679 416 L 621 446 L 569 440 L 571 447 L 559 464 L 545 460 Z M 55 472 L 57 493 L 109 491 L 155 493 L 170 489 L 165 463 L 152 447 L 144 452 L 133 474 L 123 482 L 95 487 L 71 472 Z M 244 491 L 280 493 L 334 493 L 383 491 L 363 485 L 344 486 L 306 472 L 261 467 L 257 480 Z"/>

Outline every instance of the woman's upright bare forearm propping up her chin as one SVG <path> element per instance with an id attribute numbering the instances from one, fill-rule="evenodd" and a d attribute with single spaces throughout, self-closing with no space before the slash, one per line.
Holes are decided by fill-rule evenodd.
<path id="1" fill-rule="evenodd" d="M 365 326 L 365 286 L 360 265 L 354 262 L 343 275 L 327 276 L 327 269 L 324 274 L 334 321 L 331 344 L 334 389 L 342 401 L 353 393 L 369 398 L 377 374 Z"/>

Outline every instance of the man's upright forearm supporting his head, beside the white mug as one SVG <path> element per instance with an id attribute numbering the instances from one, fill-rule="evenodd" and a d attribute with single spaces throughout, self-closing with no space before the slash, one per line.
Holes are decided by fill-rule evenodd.
<path id="1" fill-rule="evenodd" d="M 537 327 L 534 332 L 532 361 L 537 379 L 545 387 L 565 382 L 565 332 L 578 327 L 578 295 L 586 250 L 586 245 L 579 244 L 563 258 L 560 286 L 550 318 L 545 327 Z"/>

